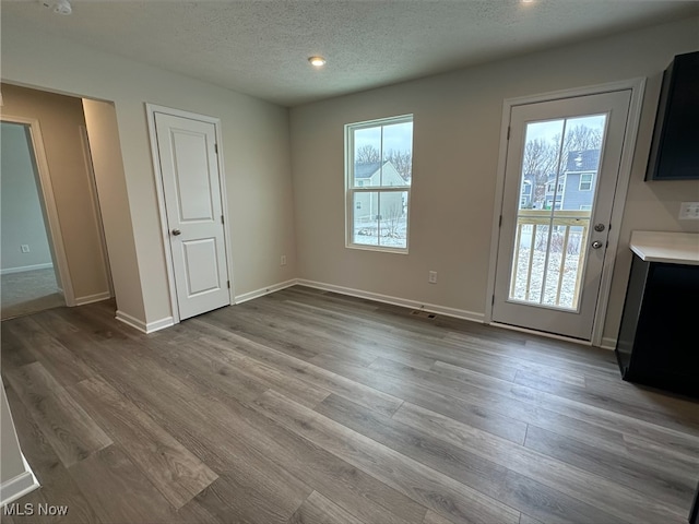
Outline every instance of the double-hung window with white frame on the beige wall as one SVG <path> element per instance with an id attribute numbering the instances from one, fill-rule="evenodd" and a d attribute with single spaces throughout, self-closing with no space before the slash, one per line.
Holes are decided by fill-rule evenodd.
<path id="1" fill-rule="evenodd" d="M 413 116 L 345 126 L 346 246 L 407 252 Z"/>

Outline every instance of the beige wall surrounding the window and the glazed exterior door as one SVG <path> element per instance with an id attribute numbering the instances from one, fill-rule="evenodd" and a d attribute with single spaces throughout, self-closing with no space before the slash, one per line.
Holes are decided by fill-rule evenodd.
<path id="1" fill-rule="evenodd" d="M 699 200 L 697 181 L 643 181 L 662 71 L 699 48 L 698 29 L 692 19 L 293 108 L 299 276 L 483 318 L 502 100 L 647 76 L 604 333 L 616 338 L 630 231 L 699 231 L 677 219 L 680 201 Z M 414 114 L 410 254 L 346 249 L 343 126 L 405 114 Z"/>

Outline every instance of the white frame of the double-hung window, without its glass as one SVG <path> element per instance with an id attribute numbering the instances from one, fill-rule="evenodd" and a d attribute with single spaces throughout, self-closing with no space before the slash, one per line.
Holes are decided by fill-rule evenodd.
<path id="1" fill-rule="evenodd" d="M 390 253 L 407 254 L 410 243 L 410 207 L 411 207 L 411 186 L 375 186 L 370 181 L 365 181 L 356 187 L 354 180 L 354 131 L 376 128 L 379 126 L 391 126 L 394 123 L 414 122 L 413 115 L 401 115 L 398 117 L 379 118 L 376 120 L 367 120 L 364 122 L 355 122 L 345 124 L 345 247 L 350 249 L 362 249 L 367 251 L 383 251 Z M 412 153 L 412 152 L 411 152 Z M 379 154 L 383 157 L 383 151 Z M 412 182 L 412 180 L 411 180 Z M 407 193 L 405 200 L 405 247 L 394 246 L 371 246 L 365 243 L 355 243 L 354 241 L 354 195 L 356 193 Z M 379 237 L 380 241 L 380 237 Z"/>

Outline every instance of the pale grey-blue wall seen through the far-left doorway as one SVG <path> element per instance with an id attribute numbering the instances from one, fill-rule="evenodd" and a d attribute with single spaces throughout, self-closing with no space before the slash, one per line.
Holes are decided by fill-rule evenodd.
<path id="1" fill-rule="evenodd" d="M 0 269 L 4 272 L 52 264 L 27 129 L 22 124 L 8 122 L 2 122 L 1 129 Z M 29 247 L 28 253 L 21 251 L 22 245 Z"/>

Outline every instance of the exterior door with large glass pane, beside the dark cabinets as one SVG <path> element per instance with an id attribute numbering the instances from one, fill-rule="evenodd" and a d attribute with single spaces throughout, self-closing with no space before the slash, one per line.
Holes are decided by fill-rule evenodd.
<path id="1" fill-rule="evenodd" d="M 495 322 L 591 340 L 630 99 L 512 107 Z"/>

